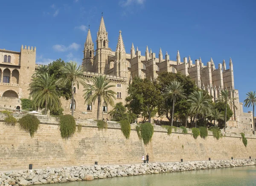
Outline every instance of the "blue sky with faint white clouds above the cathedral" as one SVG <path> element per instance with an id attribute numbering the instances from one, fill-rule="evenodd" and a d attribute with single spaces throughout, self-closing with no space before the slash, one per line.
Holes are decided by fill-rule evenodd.
<path id="1" fill-rule="evenodd" d="M 161 47 L 171 60 L 177 50 L 193 62 L 212 57 L 215 66 L 223 59 L 228 66 L 232 57 L 243 101 L 256 90 L 255 9 L 255 0 L 8 0 L 1 2 L 0 48 L 36 46 L 37 63 L 61 58 L 81 64 L 88 25 L 95 41 L 103 12 L 113 50 L 121 29 L 126 52 L 133 42 L 142 54 L 148 45 L 158 56 Z"/>

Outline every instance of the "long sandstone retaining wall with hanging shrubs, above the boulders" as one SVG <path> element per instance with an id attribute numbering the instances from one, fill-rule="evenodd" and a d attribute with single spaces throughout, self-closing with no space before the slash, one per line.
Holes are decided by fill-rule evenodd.
<path id="1" fill-rule="evenodd" d="M 18 116 L 18 115 L 17 115 Z M 256 137 L 246 135 L 248 145 L 242 143 L 241 134 L 226 133 L 220 140 L 211 134 L 206 139 L 194 139 L 179 131 L 167 135 L 165 129 L 154 126 L 151 143 L 144 146 L 132 125 L 130 139 L 126 140 L 118 123 L 109 122 L 108 129 L 99 131 L 95 121 L 77 120 L 82 131 L 69 140 L 61 139 L 58 120 L 38 116 L 41 126 L 34 138 L 15 127 L 6 126 L 0 115 L 0 170 L 79 166 L 93 164 L 140 163 L 144 153 L 151 162 L 187 160 L 212 160 L 256 157 Z M 18 117 L 21 117 L 20 115 Z"/>

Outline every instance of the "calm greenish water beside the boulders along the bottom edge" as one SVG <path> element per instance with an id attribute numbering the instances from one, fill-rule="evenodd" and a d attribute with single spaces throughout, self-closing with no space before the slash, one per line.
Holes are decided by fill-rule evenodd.
<path id="1" fill-rule="evenodd" d="M 113 177 L 44 186 L 256 186 L 256 166 Z"/>

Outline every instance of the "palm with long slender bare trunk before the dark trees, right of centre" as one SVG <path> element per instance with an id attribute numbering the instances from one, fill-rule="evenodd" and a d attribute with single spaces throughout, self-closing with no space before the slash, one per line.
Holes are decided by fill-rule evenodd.
<path id="1" fill-rule="evenodd" d="M 173 124 L 173 115 L 174 115 L 174 105 L 178 99 L 186 99 L 186 94 L 184 93 L 183 85 L 180 85 L 180 82 L 173 80 L 165 89 L 164 99 L 170 99 L 172 101 L 172 117 L 171 117 L 171 126 Z"/>

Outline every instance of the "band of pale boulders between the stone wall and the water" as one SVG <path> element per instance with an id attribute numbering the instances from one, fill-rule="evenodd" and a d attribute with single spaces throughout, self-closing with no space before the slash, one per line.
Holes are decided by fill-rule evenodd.
<path id="1" fill-rule="evenodd" d="M 217 169 L 236 166 L 256 165 L 256 159 L 188 161 L 172 163 L 142 163 L 131 165 L 73 166 L 52 169 L 0 172 L 0 186 L 26 186 L 45 183 L 64 183 L 103 179 L 107 177 L 136 176 L 180 172 L 200 169 Z"/>

